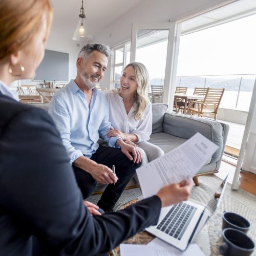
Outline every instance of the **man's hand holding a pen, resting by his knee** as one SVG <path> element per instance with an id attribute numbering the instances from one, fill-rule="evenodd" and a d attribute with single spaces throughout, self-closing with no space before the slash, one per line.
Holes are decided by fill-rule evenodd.
<path id="1" fill-rule="evenodd" d="M 88 172 L 98 183 L 101 184 L 113 184 L 118 181 L 118 178 L 113 173 L 113 170 L 103 164 L 93 164 Z"/>

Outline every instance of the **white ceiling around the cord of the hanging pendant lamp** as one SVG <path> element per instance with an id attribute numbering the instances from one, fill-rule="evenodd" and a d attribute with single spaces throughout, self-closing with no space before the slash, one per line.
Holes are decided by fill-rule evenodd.
<path id="1" fill-rule="evenodd" d="M 145 1 L 147 0 L 84 0 L 86 28 L 90 34 L 95 35 Z M 53 30 L 73 36 L 81 3 L 81 0 L 52 0 Z"/>

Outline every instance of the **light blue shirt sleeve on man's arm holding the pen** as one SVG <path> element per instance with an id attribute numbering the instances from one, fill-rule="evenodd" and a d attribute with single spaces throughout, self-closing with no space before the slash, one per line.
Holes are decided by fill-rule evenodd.
<path id="1" fill-rule="evenodd" d="M 72 164 L 77 158 L 83 156 L 83 154 L 71 144 L 70 115 L 67 106 L 57 97 L 53 97 L 49 107 L 49 114 L 57 126 L 62 143 L 66 147 L 70 163 Z"/>

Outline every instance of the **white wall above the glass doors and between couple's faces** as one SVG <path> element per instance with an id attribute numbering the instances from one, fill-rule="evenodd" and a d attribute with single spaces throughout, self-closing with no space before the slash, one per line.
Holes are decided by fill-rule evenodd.
<path id="1" fill-rule="evenodd" d="M 136 9 L 121 16 L 115 23 L 94 35 L 95 42 L 101 42 L 111 47 L 131 40 L 132 23 L 168 22 L 169 18 L 175 22 L 188 18 L 203 11 L 210 10 L 230 0 L 149 0 L 141 3 Z M 105 77 L 101 81 L 102 87 L 109 88 L 110 63 Z"/>

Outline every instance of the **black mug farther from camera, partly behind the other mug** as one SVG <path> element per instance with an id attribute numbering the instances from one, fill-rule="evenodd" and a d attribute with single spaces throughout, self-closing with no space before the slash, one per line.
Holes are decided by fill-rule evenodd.
<path id="1" fill-rule="evenodd" d="M 247 233 L 250 228 L 250 223 L 241 215 L 225 211 L 222 218 L 222 230 L 225 228 L 234 228 Z"/>

